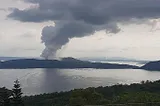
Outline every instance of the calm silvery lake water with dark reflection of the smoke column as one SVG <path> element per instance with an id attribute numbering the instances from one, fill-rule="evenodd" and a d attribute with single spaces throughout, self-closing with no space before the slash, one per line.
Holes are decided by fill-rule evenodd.
<path id="1" fill-rule="evenodd" d="M 74 88 L 154 81 L 160 79 L 160 72 L 139 69 L 7 69 L 0 70 L 0 87 L 11 89 L 17 78 L 25 95 L 35 95 Z"/>

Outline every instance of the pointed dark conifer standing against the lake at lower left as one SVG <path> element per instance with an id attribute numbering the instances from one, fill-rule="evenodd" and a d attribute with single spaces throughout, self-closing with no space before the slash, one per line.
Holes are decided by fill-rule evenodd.
<path id="1" fill-rule="evenodd" d="M 14 88 L 12 89 L 12 96 L 13 96 L 13 105 L 14 106 L 23 106 L 22 101 L 22 91 L 21 91 L 21 85 L 19 80 L 17 79 L 14 81 Z"/>

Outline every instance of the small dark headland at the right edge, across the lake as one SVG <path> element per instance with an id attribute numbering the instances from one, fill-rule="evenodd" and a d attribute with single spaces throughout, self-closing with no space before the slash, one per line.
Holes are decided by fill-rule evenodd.
<path id="1" fill-rule="evenodd" d="M 152 61 L 141 67 L 145 70 L 160 71 L 160 61 Z"/>

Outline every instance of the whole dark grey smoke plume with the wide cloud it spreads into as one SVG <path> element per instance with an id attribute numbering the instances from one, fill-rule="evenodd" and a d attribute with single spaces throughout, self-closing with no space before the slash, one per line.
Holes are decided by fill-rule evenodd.
<path id="1" fill-rule="evenodd" d="M 89 36 L 99 30 L 117 33 L 120 31 L 117 23 L 160 17 L 160 0 L 24 1 L 36 6 L 24 10 L 15 8 L 8 15 L 9 18 L 22 22 L 55 22 L 55 26 L 46 26 L 42 30 L 42 42 L 46 46 L 42 53 L 44 58 L 55 56 L 69 38 Z"/>

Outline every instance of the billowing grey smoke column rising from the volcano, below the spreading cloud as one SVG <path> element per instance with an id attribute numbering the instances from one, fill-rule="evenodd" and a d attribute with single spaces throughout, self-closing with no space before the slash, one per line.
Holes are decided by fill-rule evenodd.
<path id="1" fill-rule="evenodd" d="M 55 26 L 46 26 L 42 30 L 42 43 L 45 44 L 41 57 L 53 59 L 56 51 L 69 42 L 70 38 L 84 37 L 95 32 L 92 25 L 82 22 L 56 22 Z"/>

